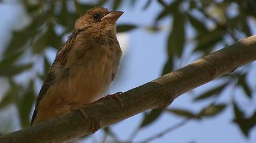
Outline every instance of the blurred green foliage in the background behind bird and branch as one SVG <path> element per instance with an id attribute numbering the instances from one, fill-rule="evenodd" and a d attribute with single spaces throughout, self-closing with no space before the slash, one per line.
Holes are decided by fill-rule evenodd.
<path id="1" fill-rule="evenodd" d="M 7 78 L 10 88 L 5 92 L 0 101 L 0 108 L 14 104 L 18 108 L 21 127 L 29 125 L 29 115 L 32 111 L 32 105 L 36 99 L 35 82 L 37 79 L 43 80 L 51 65 L 46 56 L 46 50 L 49 48 L 59 48 L 63 44 L 62 39 L 74 28 L 74 21 L 84 14 L 86 10 L 92 7 L 110 4 L 111 10 L 118 9 L 124 2 L 129 3 L 130 7 L 136 7 L 136 0 L 99 0 L 91 2 L 82 1 L 29 1 L 21 0 L 21 5 L 26 9 L 30 22 L 26 27 L 16 30 L 12 33 L 12 39 L 0 59 L 0 75 Z M 152 0 L 145 1 L 141 10 L 147 10 Z M 256 1 L 254 0 L 173 0 L 156 1 L 162 10 L 156 12 L 155 22 L 152 25 L 144 25 L 149 32 L 158 32 L 162 28 L 163 19 L 171 19 L 168 25 L 168 36 L 166 37 L 166 54 L 168 59 L 163 65 L 162 74 L 169 73 L 177 67 L 177 60 L 182 61 L 183 53 L 187 44 L 193 44 L 193 53 L 207 55 L 215 50 L 218 44 L 229 45 L 238 39 L 251 36 L 252 31 L 249 26 L 249 19 L 256 18 Z M 194 35 L 188 36 L 188 26 L 194 30 Z M 141 25 L 135 23 L 119 24 L 117 32 L 129 32 L 141 28 Z M 23 61 L 30 53 L 30 60 Z M 192 54 L 193 54 L 192 53 Z M 41 58 L 44 62 L 43 71 L 38 71 L 35 58 Z M 232 102 L 217 103 L 220 93 L 226 90 L 226 87 L 242 88 L 247 98 L 251 99 L 255 95 L 254 90 L 247 82 L 247 75 L 251 66 L 247 65 L 242 70 L 235 71 L 230 75 L 224 76 L 227 79 L 222 84 L 210 88 L 205 93 L 194 97 L 194 103 L 212 101 L 201 111 L 194 113 L 182 108 L 154 109 L 144 113 L 139 131 L 157 121 L 162 113 L 171 113 L 172 115 L 182 116 L 187 119 L 201 120 L 202 118 L 213 118 L 227 107 L 233 107 L 233 123 L 241 128 L 244 135 L 248 136 L 249 131 L 256 124 L 256 111 L 252 116 L 244 116 L 243 111 L 234 99 L 230 96 Z M 15 77 L 30 72 L 34 75 L 29 78 L 29 82 L 16 82 Z M 255 86 L 254 86 L 255 87 Z M 242 96 L 242 95 L 238 95 Z M 112 136 L 117 141 L 115 134 L 110 127 L 104 129 L 106 135 Z"/>

